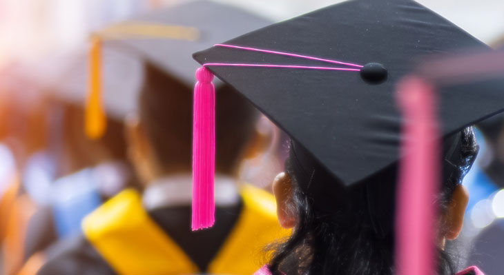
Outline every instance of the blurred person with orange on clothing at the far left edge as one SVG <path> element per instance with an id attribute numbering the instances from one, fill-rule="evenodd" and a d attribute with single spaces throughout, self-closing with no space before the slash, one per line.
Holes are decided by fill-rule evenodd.
<path id="1" fill-rule="evenodd" d="M 3 70 L 0 81 L 3 143 L 0 243 L 4 274 L 15 274 L 21 266 L 28 221 L 36 210 L 34 201 L 23 188 L 19 167 L 46 142 L 43 99 L 35 85 L 22 77 L 24 70 L 25 64 L 12 63 Z"/>

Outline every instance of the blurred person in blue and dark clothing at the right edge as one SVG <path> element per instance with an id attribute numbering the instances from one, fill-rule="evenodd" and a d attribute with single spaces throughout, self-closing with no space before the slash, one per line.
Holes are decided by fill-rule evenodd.
<path id="1" fill-rule="evenodd" d="M 504 37 L 491 43 L 500 49 Z M 504 270 L 504 116 L 476 125 L 480 153 L 463 184 L 469 191 L 460 240 L 450 249 L 463 252 L 461 265 L 478 265 L 485 274 Z M 461 249 L 462 248 L 462 249 Z"/>

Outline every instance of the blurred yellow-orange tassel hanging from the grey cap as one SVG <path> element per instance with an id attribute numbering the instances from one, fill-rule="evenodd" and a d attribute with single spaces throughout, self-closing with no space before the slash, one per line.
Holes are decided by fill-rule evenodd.
<path id="1" fill-rule="evenodd" d="M 84 114 L 84 130 L 90 139 L 99 139 L 106 130 L 106 114 L 101 103 L 101 41 L 91 38 L 89 50 L 88 96 Z"/>

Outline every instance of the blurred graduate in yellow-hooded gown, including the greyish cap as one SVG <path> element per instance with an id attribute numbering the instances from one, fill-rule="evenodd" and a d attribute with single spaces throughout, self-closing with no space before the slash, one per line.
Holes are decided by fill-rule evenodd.
<path id="1" fill-rule="evenodd" d="M 256 131 L 258 112 L 222 83 L 216 87 L 217 224 L 191 232 L 191 107 L 197 65 L 191 53 L 266 23 L 242 10 L 196 1 L 113 27 L 114 34 L 123 36 L 130 24 L 135 30 L 157 30 L 144 39 L 121 36 L 110 42 L 106 30 L 101 32 L 104 66 L 112 54 L 107 49 L 143 64 L 141 88 L 105 89 L 103 94 L 114 94 L 123 103 L 138 98 L 137 110 L 126 119 L 126 136 L 144 194 L 125 190 L 86 216 L 84 234 L 50 247 L 38 274 L 251 274 L 261 265 L 263 246 L 288 231 L 276 221 L 273 196 L 238 179 L 240 163 L 261 154 L 267 138 Z M 177 37 L 169 38 L 173 35 Z"/>

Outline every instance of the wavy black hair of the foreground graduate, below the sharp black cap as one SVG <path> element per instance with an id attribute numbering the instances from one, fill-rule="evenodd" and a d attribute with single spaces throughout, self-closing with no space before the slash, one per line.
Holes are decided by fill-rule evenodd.
<path id="1" fill-rule="evenodd" d="M 443 150 L 450 156 L 443 156 L 443 163 L 448 165 L 443 164 L 443 186 L 437 197 L 441 213 L 446 210 L 454 187 L 461 184 L 478 152 L 472 128 L 463 130 L 449 143 L 452 144 L 445 142 L 444 147 L 456 144 L 456 150 Z M 348 188 L 328 174 L 316 179 L 316 173 L 309 177 L 307 187 L 308 183 L 301 182 L 297 176 L 299 168 L 291 147 L 285 168 L 293 182 L 289 211 L 298 220 L 290 238 L 275 247 L 269 263 L 273 274 L 394 274 L 397 165 Z M 317 189 L 311 187 L 313 185 L 323 187 Z M 328 199 L 327 193 L 333 194 L 332 198 Z M 357 203 L 362 201 L 365 203 Z M 437 255 L 438 274 L 455 274 L 452 256 L 442 249 L 438 249 Z"/>

